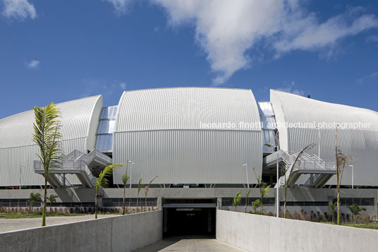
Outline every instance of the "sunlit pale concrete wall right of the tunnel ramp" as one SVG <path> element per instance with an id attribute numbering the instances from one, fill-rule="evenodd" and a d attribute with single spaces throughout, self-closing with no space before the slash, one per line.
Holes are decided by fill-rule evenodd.
<path id="1" fill-rule="evenodd" d="M 217 210 L 217 239 L 248 251 L 377 251 L 378 231 Z"/>

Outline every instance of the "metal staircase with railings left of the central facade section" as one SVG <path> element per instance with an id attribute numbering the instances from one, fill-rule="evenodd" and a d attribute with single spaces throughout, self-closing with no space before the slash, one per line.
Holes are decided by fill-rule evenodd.
<path id="1" fill-rule="evenodd" d="M 47 181 L 54 188 L 59 188 L 66 184 L 64 174 L 75 174 L 83 186 L 92 188 L 96 183 L 92 169 L 102 169 L 111 163 L 111 157 L 98 150 L 92 150 L 89 154 L 73 150 L 67 155 L 61 155 L 61 167 L 50 169 Z M 34 161 L 34 172 L 44 175 L 44 167 L 40 160 Z"/>

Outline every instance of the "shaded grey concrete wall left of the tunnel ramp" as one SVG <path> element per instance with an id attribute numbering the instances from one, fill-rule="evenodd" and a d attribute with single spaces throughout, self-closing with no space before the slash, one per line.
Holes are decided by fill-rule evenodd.
<path id="1" fill-rule="evenodd" d="M 161 211 L 0 234 L 0 251 L 133 251 L 162 238 Z"/>

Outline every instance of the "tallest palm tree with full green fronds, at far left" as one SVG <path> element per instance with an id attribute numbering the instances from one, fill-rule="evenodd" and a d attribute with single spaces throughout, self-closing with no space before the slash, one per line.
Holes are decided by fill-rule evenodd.
<path id="1" fill-rule="evenodd" d="M 36 153 L 44 167 L 44 199 L 42 212 L 42 227 L 46 226 L 47 177 L 49 170 L 61 166 L 61 133 L 59 131 L 60 114 L 54 103 L 47 107 L 34 107 L 35 123 L 32 140 L 39 147 Z"/>

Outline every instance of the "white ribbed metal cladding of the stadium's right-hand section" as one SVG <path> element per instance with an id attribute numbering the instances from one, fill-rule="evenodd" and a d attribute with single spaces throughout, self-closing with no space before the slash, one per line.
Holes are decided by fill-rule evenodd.
<path id="1" fill-rule="evenodd" d="M 276 121 L 279 127 L 279 142 L 286 151 L 301 150 L 310 143 L 320 146 L 320 158 L 335 160 L 335 128 L 288 128 L 282 123 L 370 123 L 370 128 L 339 128 L 339 147 L 344 153 L 352 153 L 354 159 L 354 184 L 356 186 L 378 186 L 378 113 L 341 104 L 312 100 L 287 92 L 271 90 Z M 281 125 L 280 125 L 281 123 Z M 320 136 L 320 137 L 319 137 Z M 320 141 L 318 140 L 320 139 Z M 316 154 L 318 145 L 310 153 Z M 347 167 L 342 184 L 350 185 L 352 169 Z M 304 178 L 305 179 L 305 178 Z M 299 181 L 303 183 L 304 181 Z M 336 184 L 333 178 L 329 184 Z"/>

